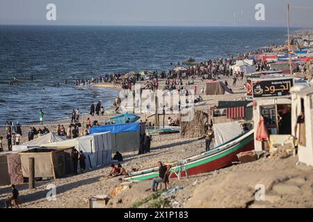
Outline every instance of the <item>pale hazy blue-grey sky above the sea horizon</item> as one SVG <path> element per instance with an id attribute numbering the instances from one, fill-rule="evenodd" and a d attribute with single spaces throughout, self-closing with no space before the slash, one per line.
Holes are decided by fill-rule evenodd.
<path id="1" fill-rule="evenodd" d="M 56 21 L 46 19 L 48 3 L 56 5 Z M 255 19 L 257 3 L 264 21 Z M 291 26 L 313 27 L 312 0 L 0 0 L 0 24 L 287 26 L 287 3 Z"/>

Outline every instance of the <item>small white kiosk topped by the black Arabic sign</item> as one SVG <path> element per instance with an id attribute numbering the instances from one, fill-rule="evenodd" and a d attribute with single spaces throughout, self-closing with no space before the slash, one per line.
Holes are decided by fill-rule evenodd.
<path id="1" fill-rule="evenodd" d="M 294 78 L 249 78 L 248 80 L 251 80 L 251 90 L 254 100 L 254 126 L 259 126 L 262 116 L 268 135 L 290 135 L 290 89 L 294 86 Z M 279 119 L 280 121 L 278 121 Z M 268 149 L 268 140 L 258 141 L 257 137 L 258 133 L 255 133 L 255 151 Z"/>

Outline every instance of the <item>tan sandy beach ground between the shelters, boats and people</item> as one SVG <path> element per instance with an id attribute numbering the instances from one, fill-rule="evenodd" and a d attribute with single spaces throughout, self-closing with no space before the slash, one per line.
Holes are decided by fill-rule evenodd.
<path id="1" fill-rule="evenodd" d="M 282 50 L 276 49 L 276 50 Z M 198 91 L 195 96 L 201 95 L 207 105 L 217 105 L 218 101 L 240 101 L 244 100 L 246 89 L 243 84 L 246 79 L 239 79 L 236 87 L 232 87 L 231 77 L 221 77 L 220 80 L 227 80 L 234 94 L 204 95 L 200 94 L 200 89 L 204 87 L 204 80 L 196 78 L 194 85 L 187 85 L 186 89 Z M 160 80 L 160 88 L 165 85 L 166 80 Z M 142 85 L 146 81 L 140 82 Z M 95 87 L 115 87 L 110 83 L 99 83 Z M 89 117 L 91 121 L 97 120 L 103 124 L 114 114 L 112 108 L 106 110 L 104 116 Z M 175 118 L 175 115 L 168 114 Z M 141 115 L 141 120 L 145 121 L 146 115 Z M 154 117 L 148 119 L 153 121 Z M 56 133 L 56 124 L 63 124 L 65 128 L 70 124 L 70 120 L 45 122 L 50 132 Z M 21 143 L 26 142 L 29 126 L 22 126 L 23 137 Z M 80 128 L 83 133 L 83 128 Z M 5 138 L 3 128 L 0 135 Z M 6 139 L 3 139 L 3 146 L 6 149 Z M 152 137 L 152 151 L 143 155 L 136 152 L 122 153 L 124 162 L 122 166 L 127 171 L 131 169 L 147 169 L 157 166 L 157 162 L 164 164 L 182 160 L 186 157 L 198 155 L 205 151 L 204 139 L 182 138 L 178 134 L 155 135 Z M 56 180 L 35 182 L 35 189 L 28 189 L 28 184 L 17 185 L 19 189 L 20 202 L 25 208 L 87 208 L 88 197 L 95 195 L 109 195 L 110 200 L 107 205 L 110 207 L 237 207 L 237 208 L 259 208 L 259 207 L 313 207 L 313 168 L 305 164 L 298 163 L 298 157 L 261 157 L 255 162 L 245 164 L 234 164 L 232 167 L 218 169 L 213 172 L 203 173 L 189 178 L 170 179 L 170 187 L 180 187 L 172 194 L 157 196 L 157 198 L 145 198 L 152 195 L 152 191 L 145 191 L 150 187 L 150 180 L 134 182 L 126 185 L 127 189 L 118 195 L 111 195 L 114 187 L 120 187 L 118 178 L 106 178 L 111 167 L 104 166 L 76 176 L 67 176 Z M 47 200 L 47 186 L 56 186 L 56 200 Z M 263 185 L 265 189 L 265 201 L 255 199 L 255 187 Z M 10 187 L 0 187 L 0 207 L 3 201 L 10 194 Z"/>

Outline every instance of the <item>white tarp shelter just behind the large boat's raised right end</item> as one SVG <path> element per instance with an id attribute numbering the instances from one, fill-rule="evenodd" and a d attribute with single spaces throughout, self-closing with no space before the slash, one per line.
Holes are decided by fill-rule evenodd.
<path id="1" fill-rule="evenodd" d="M 230 139 L 241 134 L 241 124 L 238 121 L 228 123 L 217 123 L 213 125 L 214 130 L 214 146 L 223 144 Z"/>

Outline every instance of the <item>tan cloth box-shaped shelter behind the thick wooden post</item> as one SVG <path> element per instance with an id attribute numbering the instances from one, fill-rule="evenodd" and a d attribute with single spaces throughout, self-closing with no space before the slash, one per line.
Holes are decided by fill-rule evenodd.
<path id="1" fill-rule="evenodd" d="M 29 178 L 29 158 L 35 159 L 35 178 L 62 178 L 72 173 L 72 159 L 70 149 L 56 148 L 30 148 L 26 152 L 19 153 L 22 163 L 22 174 L 24 178 Z M 67 151 L 67 152 L 66 152 Z"/>

